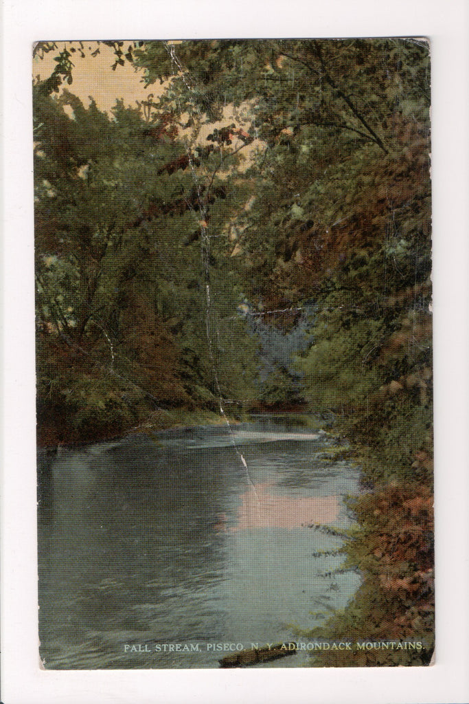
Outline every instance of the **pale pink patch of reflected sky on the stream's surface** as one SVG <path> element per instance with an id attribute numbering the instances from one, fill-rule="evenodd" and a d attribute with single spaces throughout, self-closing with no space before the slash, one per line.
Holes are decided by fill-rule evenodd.
<path id="1" fill-rule="evenodd" d="M 246 528 L 300 528 L 311 523 L 332 523 L 340 511 L 338 496 L 278 496 L 269 492 L 271 484 L 257 484 L 243 494 L 237 522 L 232 531 Z M 219 514 L 217 531 L 226 530 L 226 515 Z"/>

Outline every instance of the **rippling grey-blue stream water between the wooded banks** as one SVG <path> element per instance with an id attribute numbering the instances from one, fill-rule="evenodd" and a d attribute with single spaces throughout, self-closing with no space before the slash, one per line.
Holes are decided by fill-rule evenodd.
<path id="1" fill-rule="evenodd" d="M 291 419 L 233 432 L 40 458 L 53 477 L 39 505 L 45 667 L 218 667 L 230 652 L 220 648 L 308 641 L 297 629 L 343 608 L 359 576 L 316 553 L 342 544 L 327 527 L 349 527 L 343 498 L 358 493 L 358 470 Z M 308 664 L 304 652 L 259 667 Z"/>

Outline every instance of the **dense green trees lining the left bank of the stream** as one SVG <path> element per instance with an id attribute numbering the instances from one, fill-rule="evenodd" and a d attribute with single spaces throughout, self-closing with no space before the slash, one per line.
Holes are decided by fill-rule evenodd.
<path id="1" fill-rule="evenodd" d="M 54 435 L 59 417 L 60 439 L 87 438 L 155 406 L 252 397 L 255 345 L 233 316 L 238 266 L 226 257 L 229 239 L 212 238 L 237 205 L 236 188 L 227 194 L 212 174 L 200 201 L 167 113 L 153 115 L 158 135 L 149 136 L 140 111 L 122 103 L 109 119 L 70 93 L 36 89 L 34 108 L 39 436 Z M 80 360 L 75 379 L 63 376 L 67 356 Z"/>

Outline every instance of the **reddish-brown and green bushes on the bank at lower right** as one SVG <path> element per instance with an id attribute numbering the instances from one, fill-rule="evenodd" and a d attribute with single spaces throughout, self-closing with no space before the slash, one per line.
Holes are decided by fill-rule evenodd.
<path id="1" fill-rule="evenodd" d="M 415 469 L 415 467 L 414 467 Z M 364 477 L 362 475 L 362 481 Z M 367 481 L 373 472 L 367 473 Z M 349 499 L 356 526 L 345 541 L 343 568 L 362 582 L 345 609 L 308 632 L 315 639 L 367 641 L 366 648 L 314 653 L 317 667 L 430 665 L 435 648 L 432 482 L 380 472 L 366 493 Z M 404 648 L 402 642 L 417 643 Z"/>

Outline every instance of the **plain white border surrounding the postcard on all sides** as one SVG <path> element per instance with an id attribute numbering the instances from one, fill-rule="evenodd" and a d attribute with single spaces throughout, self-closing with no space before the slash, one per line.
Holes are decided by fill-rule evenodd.
<path id="1" fill-rule="evenodd" d="M 11 0 L 4 4 L 2 684 L 4 704 L 469 701 L 468 18 L 465 0 Z M 428 36 L 437 384 L 437 664 L 363 670 L 44 672 L 37 654 L 32 42 Z"/>

